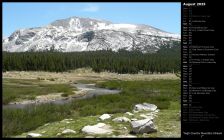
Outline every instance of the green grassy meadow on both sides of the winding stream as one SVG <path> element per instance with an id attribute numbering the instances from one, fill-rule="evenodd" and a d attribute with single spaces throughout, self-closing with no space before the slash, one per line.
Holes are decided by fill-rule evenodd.
<path id="1" fill-rule="evenodd" d="M 88 80 L 85 82 L 88 83 Z M 73 129 L 78 131 L 78 134 L 72 137 L 83 137 L 80 129 L 88 122 L 93 123 L 99 115 L 109 113 L 117 116 L 127 111 L 131 112 L 135 104 L 143 102 L 155 104 L 161 110 L 155 120 L 161 132 L 152 134 L 151 137 L 180 135 L 180 118 L 177 115 L 180 111 L 180 80 L 104 80 L 101 82 L 92 80 L 91 83 L 93 82 L 98 87 L 120 89 L 121 93 L 75 100 L 64 105 L 42 104 L 25 109 L 3 109 L 3 136 L 12 137 L 33 130 L 44 130 L 47 131 L 45 136 L 56 137 L 57 131 L 52 132 L 47 128 L 59 129 L 56 128 L 57 125 L 61 125 L 59 121 L 73 118 L 74 121 L 79 122 L 76 122 L 76 125 L 67 124 L 67 127 L 74 127 Z M 69 84 L 43 84 L 40 79 L 3 79 L 3 102 L 8 103 L 24 97 L 35 98 L 40 94 L 70 93 L 72 90 L 74 89 Z M 83 119 L 87 119 L 85 123 L 81 121 Z M 51 125 L 45 127 L 46 123 Z M 175 128 L 170 130 L 173 125 Z M 130 128 L 129 124 L 124 126 Z"/>

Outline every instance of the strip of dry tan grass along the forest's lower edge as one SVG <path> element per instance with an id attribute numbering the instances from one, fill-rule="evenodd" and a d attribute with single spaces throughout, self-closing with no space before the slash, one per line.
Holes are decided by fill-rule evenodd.
<path id="1" fill-rule="evenodd" d="M 9 71 L 3 73 L 3 78 L 13 79 L 40 79 L 48 83 L 69 83 L 79 80 L 154 80 L 179 79 L 175 74 L 117 74 L 109 72 L 95 73 L 91 69 L 77 69 L 70 72 L 43 72 L 43 71 Z M 51 80 L 54 79 L 54 80 Z"/>

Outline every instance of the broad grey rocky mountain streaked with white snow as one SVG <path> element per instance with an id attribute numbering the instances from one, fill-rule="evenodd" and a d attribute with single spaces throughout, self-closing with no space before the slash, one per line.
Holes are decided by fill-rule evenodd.
<path id="1" fill-rule="evenodd" d="M 180 41 L 172 34 L 149 25 L 114 24 L 110 21 L 71 17 L 44 27 L 20 29 L 2 40 L 3 51 L 95 51 L 140 50 L 156 52 L 161 46 Z M 172 45 L 171 45 L 172 46 Z"/>

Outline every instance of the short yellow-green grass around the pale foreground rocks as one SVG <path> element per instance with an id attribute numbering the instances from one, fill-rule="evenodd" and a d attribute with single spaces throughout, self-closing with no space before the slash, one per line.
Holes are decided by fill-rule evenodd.
<path id="1" fill-rule="evenodd" d="M 100 121 L 98 118 L 100 115 L 96 116 L 86 116 L 86 117 L 70 117 L 73 120 L 69 120 L 69 123 L 66 123 L 67 121 L 57 121 L 49 123 L 48 125 L 43 125 L 38 127 L 35 130 L 29 131 L 33 133 L 39 133 L 43 134 L 43 138 L 52 138 L 52 137 L 59 137 L 59 138 L 67 138 L 67 137 L 85 137 L 86 134 L 83 134 L 81 132 L 81 129 L 86 125 L 95 125 L 99 122 L 103 122 L 107 125 L 111 126 L 111 129 L 113 129 L 113 133 L 109 135 L 94 135 L 94 137 L 112 137 L 113 135 L 129 135 L 129 132 L 131 131 L 131 125 L 128 122 L 113 122 L 112 120 L 116 117 L 125 116 L 129 119 L 131 118 L 137 118 L 142 119 L 140 117 L 140 114 L 142 113 L 148 113 L 148 112 L 139 112 L 134 113 L 133 116 L 129 116 L 123 113 L 116 113 L 112 115 L 111 119 Z M 138 137 L 180 137 L 180 120 L 178 120 L 178 110 L 161 110 L 158 113 L 158 117 L 155 117 L 154 124 L 156 125 L 158 131 L 156 133 L 150 133 L 150 134 L 144 134 L 144 135 L 137 135 Z M 126 127 L 126 129 L 124 129 Z M 61 133 L 65 129 L 72 129 L 76 131 L 76 134 L 62 134 L 60 136 L 56 136 L 58 133 Z M 43 133 L 44 132 L 44 133 Z M 21 135 L 18 135 L 16 137 L 26 137 L 28 132 L 23 133 Z"/>

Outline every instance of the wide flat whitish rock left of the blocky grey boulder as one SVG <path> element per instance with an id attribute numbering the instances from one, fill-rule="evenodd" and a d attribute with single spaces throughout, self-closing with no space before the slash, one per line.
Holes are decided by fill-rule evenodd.
<path id="1" fill-rule="evenodd" d="M 87 125 L 82 128 L 82 132 L 87 134 L 111 134 L 112 130 L 110 129 L 109 125 L 106 125 L 104 123 L 98 123 L 96 125 Z"/>

